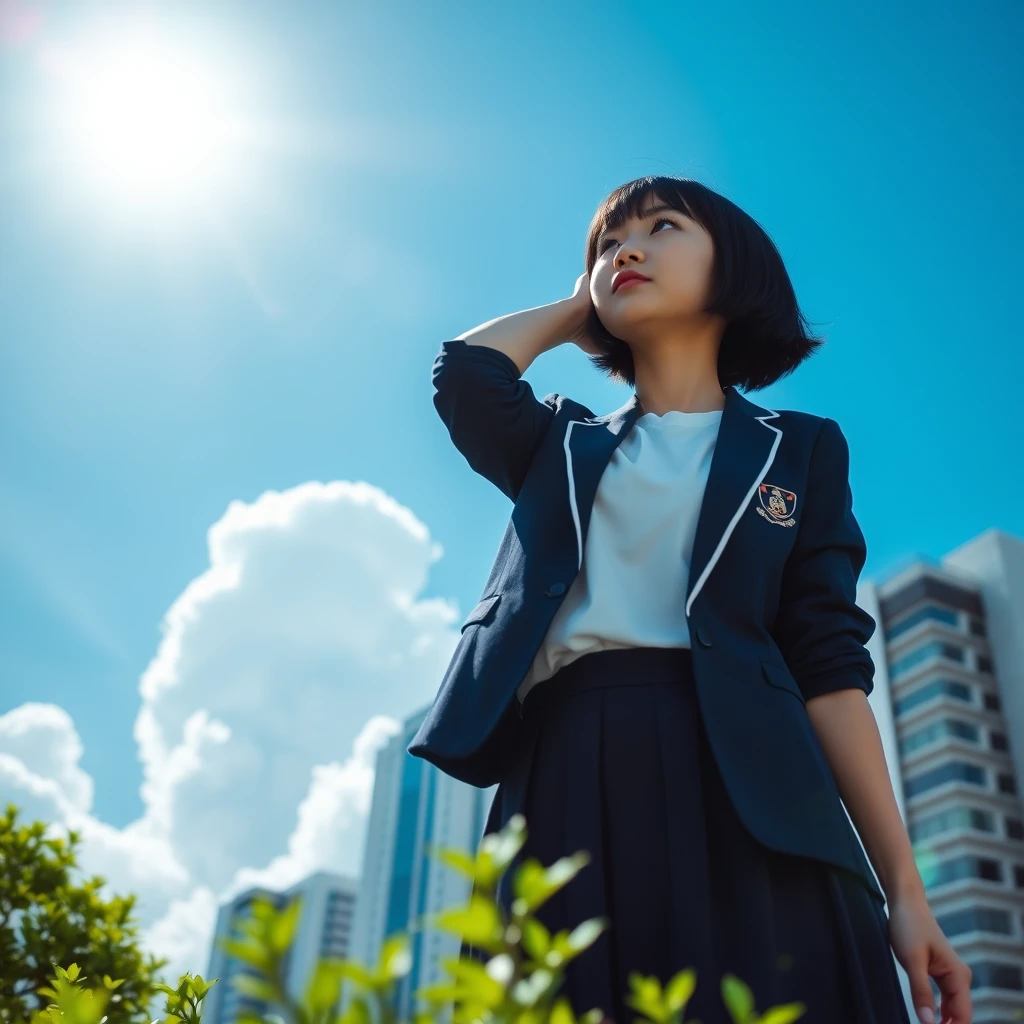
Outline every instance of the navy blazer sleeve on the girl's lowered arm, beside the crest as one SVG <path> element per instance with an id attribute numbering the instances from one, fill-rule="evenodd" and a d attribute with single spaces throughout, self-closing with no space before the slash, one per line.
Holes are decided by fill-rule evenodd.
<path id="1" fill-rule="evenodd" d="M 874 663 L 865 644 L 876 623 L 856 603 L 867 548 L 853 514 L 849 471 L 846 437 L 835 420 L 825 419 L 811 454 L 774 629 L 805 700 L 833 690 L 874 688 Z"/>

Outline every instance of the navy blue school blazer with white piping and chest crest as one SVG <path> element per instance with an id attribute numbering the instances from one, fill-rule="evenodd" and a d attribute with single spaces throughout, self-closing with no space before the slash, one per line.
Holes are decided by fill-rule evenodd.
<path id="1" fill-rule="evenodd" d="M 598 481 L 641 407 L 635 393 L 603 416 L 558 393 L 539 400 L 510 356 L 458 339 L 441 344 L 432 380 L 456 447 L 515 507 L 407 750 L 485 787 L 503 777 L 516 690 L 583 565 Z M 708 737 L 759 841 L 852 870 L 884 903 L 805 707 L 873 687 L 876 624 L 856 604 L 865 557 L 839 424 L 727 388 L 680 609 Z"/>

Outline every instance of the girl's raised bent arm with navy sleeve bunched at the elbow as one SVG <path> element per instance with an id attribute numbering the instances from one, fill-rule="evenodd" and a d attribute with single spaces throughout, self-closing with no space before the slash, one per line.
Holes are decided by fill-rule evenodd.
<path id="1" fill-rule="evenodd" d="M 489 321 L 441 344 L 434 408 L 470 466 L 513 502 L 554 419 L 558 394 L 538 400 L 521 379 L 532 360 L 568 336 L 563 302 Z"/>

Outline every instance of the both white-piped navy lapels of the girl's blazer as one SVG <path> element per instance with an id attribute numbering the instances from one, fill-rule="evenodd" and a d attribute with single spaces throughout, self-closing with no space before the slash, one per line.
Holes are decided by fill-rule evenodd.
<path id="1" fill-rule="evenodd" d="M 569 420 L 563 447 L 569 512 L 583 567 L 587 530 L 601 475 L 623 438 L 643 412 L 636 393 L 605 416 Z M 722 554 L 740 515 L 775 458 L 782 431 L 765 421 L 778 413 L 762 409 L 734 387 L 725 389 L 725 408 L 712 456 L 690 559 L 686 615 Z"/>

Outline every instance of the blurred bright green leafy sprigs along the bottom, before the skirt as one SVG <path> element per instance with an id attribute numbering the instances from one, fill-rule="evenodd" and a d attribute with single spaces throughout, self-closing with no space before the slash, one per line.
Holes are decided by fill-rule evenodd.
<path id="1" fill-rule="evenodd" d="M 575 853 L 548 867 L 526 859 L 513 878 L 510 913 L 497 901 L 498 883 L 525 838 L 525 820 L 516 815 L 502 831 L 485 836 L 475 855 L 457 849 L 431 852 L 472 883 L 467 904 L 432 915 L 435 927 L 484 950 L 489 958 L 485 964 L 468 956 L 445 958 L 446 980 L 415 993 L 430 1010 L 417 1009 L 406 1024 L 434 1024 L 444 1019 L 449 1007 L 453 1024 L 602 1024 L 602 1020 L 608 1024 L 599 1009 L 577 1018 L 559 992 L 566 966 L 594 943 L 608 927 L 607 920 L 586 921 L 552 935 L 536 916 L 537 909 L 587 865 L 589 855 Z M 385 940 L 374 967 L 352 959 L 321 959 L 301 998 L 287 991 L 285 964 L 300 906 L 298 899 L 280 909 L 268 900 L 255 900 L 251 916 L 242 924 L 241 938 L 221 940 L 225 952 L 253 972 L 233 979 L 239 990 L 267 1008 L 264 1016 L 243 1016 L 238 1024 L 271 1024 L 282 1017 L 289 1024 L 398 1024 L 395 988 L 412 969 L 404 933 Z M 104 978 L 104 988 L 93 992 L 79 987 L 82 980 L 76 965 L 67 971 L 58 968 L 52 987 L 41 990 L 54 1002 L 37 1013 L 31 1024 L 105 1024 L 102 1013 L 112 998 L 109 989 L 119 983 Z M 167 1016 L 155 1024 L 201 1024 L 201 1004 L 216 980 L 186 974 L 177 988 L 157 986 L 167 995 Z M 656 977 L 634 972 L 627 1001 L 640 1015 L 639 1024 L 683 1024 L 695 986 L 692 968 L 680 971 L 664 986 Z M 339 1012 L 343 993 L 350 998 Z M 734 1024 L 791 1024 L 805 1010 L 802 1002 L 794 1002 L 758 1014 L 749 987 L 734 975 L 723 976 L 721 994 Z"/>

